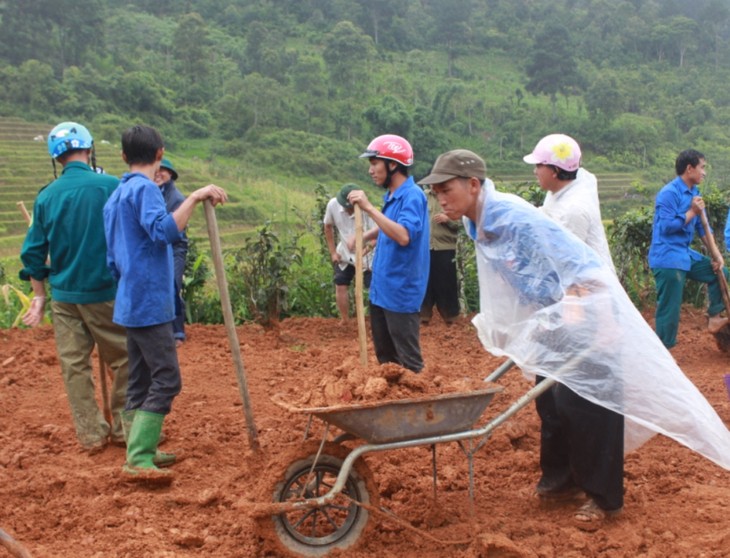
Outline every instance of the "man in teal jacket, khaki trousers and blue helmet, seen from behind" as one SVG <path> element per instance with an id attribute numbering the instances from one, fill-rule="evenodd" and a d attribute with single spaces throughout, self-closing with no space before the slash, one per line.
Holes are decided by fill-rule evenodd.
<path id="1" fill-rule="evenodd" d="M 106 267 L 102 221 L 104 204 L 119 179 L 95 172 L 94 140 L 77 122 L 62 122 L 51 130 L 48 153 L 54 175 L 56 162 L 63 170 L 39 192 L 20 252 L 20 278 L 31 282 L 34 293 L 23 323 L 35 327 L 43 319 L 48 280 L 56 350 L 71 417 L 81 446 L 93 454 L 110 439 L 124 443 L 126 334 L 112 321 L 116 282 Z M 114 377 L 111 424 L 96 402 L 90 358 L 94 345 Z"/>

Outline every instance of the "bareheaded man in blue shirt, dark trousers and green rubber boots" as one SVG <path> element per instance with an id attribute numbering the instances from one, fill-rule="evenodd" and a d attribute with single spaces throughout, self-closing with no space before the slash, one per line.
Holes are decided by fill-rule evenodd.
<path id="1" fill-rule="evenodd" d="M 195 190 L 173 212 L 155 184 L 165 151 L 154 128 L 133 126 L 122 134 L 122 158 L 129 165 L 104 206 L 107 265 L 118 279 L 114 321 L 127 328 L 129 387 L 124 423 L 128 480 L 170 482 L 162 469 L 174 461 L 157 451 L 165 416 L 182 382 L 173 334 L 175 282 L 172 245 L 179 241 L 195 206 L 224 203 L 225 191 L 209 184 Z"/>

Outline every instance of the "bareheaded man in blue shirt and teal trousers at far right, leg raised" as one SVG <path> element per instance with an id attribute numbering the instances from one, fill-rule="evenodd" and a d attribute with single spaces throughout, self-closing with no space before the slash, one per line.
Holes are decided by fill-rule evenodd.
<path id="1" fill-rule="evenodd" d="M 728 323 L 727 318 L 720 315 L 725 305 L 717 276 L 719 269 L 728 276 L 725 262 L 720 254 L 711 259 L 690 247 L 696 233 L 710 248 L 700 218 L 705 211 L 705 202 L 698 189 L 705 178 L 705 165 L 705 156 L 699 151 L 682 151 L 675 161 L 677 177 L 656 196 L 649 267 L 657 289 L 655 329 L 668 349 L 677 344 L 687 279 L 707 284 L 708 330 L 716 333 Z"/>

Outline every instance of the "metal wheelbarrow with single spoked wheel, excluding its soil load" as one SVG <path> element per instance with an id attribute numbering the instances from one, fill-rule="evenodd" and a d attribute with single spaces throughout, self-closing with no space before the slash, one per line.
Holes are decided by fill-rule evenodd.
<path id="1" fill-rule="evenodd" d="M 514 363 L 506 361 L 485 382 L 494 382 Z M 436 482 L 435 445 L 457 442 L 469 463 L 469 498 L 474 499 L 473 456 L 499 425 L 548 390 L 555 380 L 546 378 L 518 398 L 507 410 L 479 428 L 474 423 L 499 386 L 485 387 L 469 393 L 339 405 L 333 407 L 296 408 L 281 397 L 272 400 L 290 412 L 309 415 L 325 423 L 321 442 L 305 444 L 282 476 L 273 479 L 267 490 L 271 503 L 260 506 L 259 520 L 272 521 L 274 532 L 284 552 L 299 556 L 324 556 L 328 552 L 352 547 L 364 532 L 369 510 L 377 509 L 378 494 L 373 475 L 364 460 L 367 453 L 416 446 L 431 446 Z M 328 442 L 329 426 L 344 434 Z M 306 436 L 306 434 L 305 434 Z M 362 439 L 363 445 L 352 450 L 340 442 Z M 468 447 L 464 444 L 469 441 Z M 269 529 L 270 530 L 270 529 Z"/>

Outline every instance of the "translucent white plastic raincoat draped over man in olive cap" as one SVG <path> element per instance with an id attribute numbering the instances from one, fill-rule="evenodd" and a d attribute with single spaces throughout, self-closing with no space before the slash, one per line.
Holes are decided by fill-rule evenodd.
<path id="1" fill-rule="evenodd" d="M 489 180 L 480 208 L 467 227 L 484 347 L 623 414 L 627 452 L 660 433 L 730 470 L 730 431 L 598 254 Z"/>

